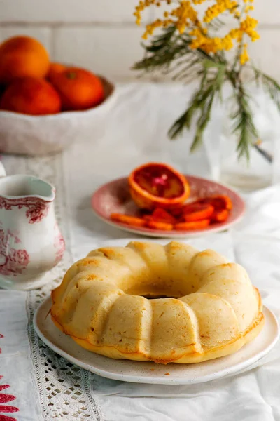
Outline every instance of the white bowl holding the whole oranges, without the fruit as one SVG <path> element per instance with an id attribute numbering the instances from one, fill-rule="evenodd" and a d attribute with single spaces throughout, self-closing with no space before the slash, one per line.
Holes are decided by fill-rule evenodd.
<path id="1" fill-rule="evenodd" d="M 105 100 L 85 111 L 29 116 L 0 111 L 0 152 L 44 155 L 60 152 L 71 143 L 87 138 L 116 98 L 116 88 L 104 77 Z"/>

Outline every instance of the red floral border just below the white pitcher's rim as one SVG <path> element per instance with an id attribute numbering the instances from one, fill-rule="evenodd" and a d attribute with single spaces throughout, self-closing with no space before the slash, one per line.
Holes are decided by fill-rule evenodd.
<path id="1" fill-rule="evenodd" d="M 24 197 L 19 199 L 5 199 L 0 197 L 0 209 L 12 210 L 13 206 L 22 209 L 27 208 L 26 215 L 29 219 L 29 224 L 41 222 L 43 218 L 48 215 L 50 208 L 48 202 L 45 202 L 37 197 Z"/>

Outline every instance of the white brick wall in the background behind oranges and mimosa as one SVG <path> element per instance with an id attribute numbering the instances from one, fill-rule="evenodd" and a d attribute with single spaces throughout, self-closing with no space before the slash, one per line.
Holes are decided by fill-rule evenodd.
<path id="1" fill-rule="evenodd" d="M 141 58 L 143 28 L 134 25 L 137 0 L 0 0 L 0 41 L 34 36 L 52 60 L 88 67 L 116 81 L 135 79 L 130 67 Z M 145 20 L 158 15 L 148 11 Z M 280 0 L 255 0 L 260 41 L 251 55 L 280 81 Z"/>

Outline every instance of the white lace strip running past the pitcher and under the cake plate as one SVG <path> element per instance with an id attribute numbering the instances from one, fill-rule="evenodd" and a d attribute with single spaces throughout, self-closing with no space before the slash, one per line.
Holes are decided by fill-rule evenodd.
<path id="1" fill-rule="evenodd" d="M 48 180 L 57 188 L 55 210 L 57 222 L 64 238 L 69 244 L 69 229 L 62 215 L 66 214 L 66 197 L 62 172 L 62 156 L 25 158 L 6 156 L 5 166 L 8 173 L 27 173 Z M 64 258 L 50 272 L 50 282 L 39 290 L 28 293 L 27 312 L 29 316 L 29 342 L 34 364 L 34 373 L 40 395 L 41 408 L 45 420 L 90 420 L 101 421 L 100 408 L 94 400 L 90 382 L 92 373 L 73 365 L 55 354 L 38 338 L 33 327 L 36 307 L 61 282 L 62 276 L 73 259 L 66 250 Z"/>

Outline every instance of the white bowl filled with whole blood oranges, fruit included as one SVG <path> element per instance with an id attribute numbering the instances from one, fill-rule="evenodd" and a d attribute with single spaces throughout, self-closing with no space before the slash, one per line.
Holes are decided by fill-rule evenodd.
<path id="1" fill-rule="evenodd" d="M 50 62 L 36 39 L 0 44 L 0 152 L 43 155 L 94 136 L 115 95 L 87 69 Z"/>

